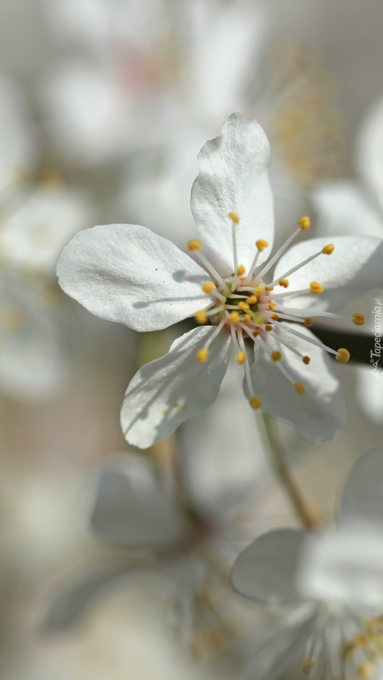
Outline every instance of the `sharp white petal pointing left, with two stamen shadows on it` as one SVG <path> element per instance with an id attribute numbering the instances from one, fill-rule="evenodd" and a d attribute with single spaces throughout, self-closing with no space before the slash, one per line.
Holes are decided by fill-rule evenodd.
<path id="1" fill-rule="evenodd" d="M 135 224 L 84 229 L 61 252 L 63 290 L 96 316 L 135 330 L 167 328 L 207 307 L 209 277 L 167 239 Z"/>

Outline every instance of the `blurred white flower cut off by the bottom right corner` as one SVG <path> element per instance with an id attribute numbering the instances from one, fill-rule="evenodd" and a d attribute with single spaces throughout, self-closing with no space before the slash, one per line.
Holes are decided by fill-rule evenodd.
<path id="1" fill-rule="evenodd" d="M 241 677 L 381 677 L 382 473 L 383 450 L 377 447 L 350 473 L 338 528 L 322 534 L 274 530 L 239 555 L 231 575 L 235 590 L 289 605 Z"/>

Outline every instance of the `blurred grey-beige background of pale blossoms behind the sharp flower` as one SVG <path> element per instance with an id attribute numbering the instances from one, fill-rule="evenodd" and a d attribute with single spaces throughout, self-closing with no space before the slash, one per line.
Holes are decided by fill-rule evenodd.
<path id="1" fill-rule="evenodd" d="M 119 425 L 129 380 L 180 333 L 139 338 L 94 318 L 61 292 L 54 266 L 94 224 L 144 224 L 184 248 L 197 152 L 233 111 L 269 135 L 277 242 L 303 214 L 313 235 L 383 237 L 382 31 L 380 0 L 0 0 L 4 680 L 230 677 L 251 647 L 246 636 L 233 645 L 222 622 L 225 634 L 204 624 L 201 636 L 194 619 L 182 643 L 165 625 L 171 594 L 143 573 L 105 589 L 69 630 L 46 630 L 74 575 L 124 556 L 90 530 L 97 477 L 112 454 L 134 454 Z M 348 428 L 314 446 L 281 426 L 303 492 L 324 515 L 352 462 L 383 439 L 383 377 L 371 377 L 368 338 L 379 296 L 360 302 L 367 324 L 353 329 L 365 334 L 365 365 L 339 367 Z M 250 539 L 296 520 L 260 439 L 240 424 L 221 452 L 233 435 L 224 428 L 247 418 L 240 390 L 225 389 L 217 411 L 139 455 L 161 469 L 175 451 L 211 459 L 210 477 L 203 464 L 197 482 L 187 473 L 201 507 L 199 485 L 213 494 L 220 454 L 228 466 L 246 454 L 257 492 Z"/>

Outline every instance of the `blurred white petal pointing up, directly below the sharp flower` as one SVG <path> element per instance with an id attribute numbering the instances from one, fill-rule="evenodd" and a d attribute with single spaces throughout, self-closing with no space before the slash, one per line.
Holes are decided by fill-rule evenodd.
<path id="1" fill-rule="evenodd" d="M 222 520 L 250 503 L 267 461 L 235 362 L 229 364 L 214 404 L 180 428 L 179 441 L 184 485 L 203 511 Z"/>

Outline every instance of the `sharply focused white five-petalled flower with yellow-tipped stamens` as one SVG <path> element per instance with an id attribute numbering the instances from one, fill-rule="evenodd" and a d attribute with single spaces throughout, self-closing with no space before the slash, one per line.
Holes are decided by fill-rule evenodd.
<path id="1" fill-rule="evenodd" d="M 185 333 L 166 356 L 133 377 L 121 411 L 130 443 L 150 446 L 210 405 L 231 345 L 254 409 L 263 405 L 316 442 L 346 424 L 344 393 L 322 350 L 341 361 L 349 354 L 324 347 L 306 326 L 378 284 L 383 243 L 373 237 L 314 239 L 282 256 L 310 226 L 301 218 L 266 263 L 273 241 L 269 160 L 265 133 L 240 114 L 230 116 L 222 135 L 199 154 L 191 208 L 222 275 L 202 254 L 201 241 L 190 241 L 189 250 L 204 269 L 166 239 L 132 224 L 81 231 L 61 253 L 61 287 L 97 316 L 135 330 L 165 328 L 191 316 L 212 322 Z M 352 320 L 364 322 L 358 313 Z"/>

